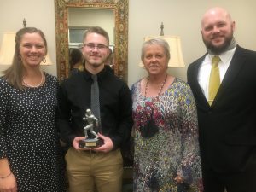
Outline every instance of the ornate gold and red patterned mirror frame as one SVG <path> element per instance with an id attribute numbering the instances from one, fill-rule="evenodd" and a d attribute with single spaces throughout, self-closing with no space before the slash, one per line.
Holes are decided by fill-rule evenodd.
<path id="1" fill-rule="evenodd" d="M 57 74 L 61 81 L 68 77 L 68 8 L 113 9 L 114 73 L 128 79 L 128 0 L 55 0 Z"/>

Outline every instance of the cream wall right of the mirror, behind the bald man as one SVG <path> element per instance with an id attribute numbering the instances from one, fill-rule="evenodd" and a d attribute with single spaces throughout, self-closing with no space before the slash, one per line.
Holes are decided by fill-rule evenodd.
<path id="1" fill-rule="evenodd" d="M 182 40 L 186 67 L 169 68 L 173 75 L 186 80 L 187 66 L 206 52 L 201 40 L 201 16 L 212 6 L 222 6 L 236 20 L 235 37 L 238 44 L 256 50 L 256 2 L 254 0 L 130 0 L 129 2 L 129 84 L 146 75 L 137 68 L 143 37 L 160 35 L 164 23 L 165 35 L 178 35 Z M 172 56 L 172 55 L 171 55 Z"/>

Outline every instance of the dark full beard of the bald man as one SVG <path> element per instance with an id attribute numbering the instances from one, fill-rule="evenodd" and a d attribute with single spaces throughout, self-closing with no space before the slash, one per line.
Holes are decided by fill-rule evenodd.
<path id="1" fill-rule="evenodd" d="M 207 49 L 211 50 L 212 54 L 220 55 L 229 48 L 232 39 L 233 39 L 233 33 L 230 34 L 230 36 L 224 38 L 224 44 L 220 46 L 215 46 L 214 44 L 212 44 L 211 41 L 207 41 L 204 38 L 203 38 L 203 42 L 206 45 Z"/>

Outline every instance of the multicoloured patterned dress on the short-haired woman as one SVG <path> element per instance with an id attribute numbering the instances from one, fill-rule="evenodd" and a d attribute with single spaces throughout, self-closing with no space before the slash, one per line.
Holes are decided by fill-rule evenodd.
<path id="1" fill-rule="evenodd" d="M 141 93 L 139 80 L 131 86 L 134 191 L 202 191 L 197 113 L 189 85 L 175 79 L 158 98 Z M 150 119 L 158 130 L 144 137 L 143 126 Z M 176 183 L 177 174 L 183 177 L 183 183 Z"/>

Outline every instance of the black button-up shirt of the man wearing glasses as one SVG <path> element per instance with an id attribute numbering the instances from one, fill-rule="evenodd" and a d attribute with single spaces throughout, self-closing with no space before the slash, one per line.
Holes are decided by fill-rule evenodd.
<path id="1" fill-rule="evenodd" d="M 61 140 L 72 146 L 74 137 L 84 136 L 83 117 L 90 108 L 91 74 L 77 73 L 65 79 L 58 91 L 57 124 Z M 102 134 L 119 148 L 131 136 L 131 92 L 124 81 L 104 68 L 97 74 L 99 84 Z"/>

